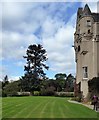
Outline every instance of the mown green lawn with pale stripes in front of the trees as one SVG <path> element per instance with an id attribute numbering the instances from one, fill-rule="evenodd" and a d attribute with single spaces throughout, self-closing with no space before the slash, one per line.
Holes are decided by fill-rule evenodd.
<path id="1" fill-rule="evenodd" d="M 97 118 L 97 113 L 61 97 L 7 97 L 3 118 Z"/>

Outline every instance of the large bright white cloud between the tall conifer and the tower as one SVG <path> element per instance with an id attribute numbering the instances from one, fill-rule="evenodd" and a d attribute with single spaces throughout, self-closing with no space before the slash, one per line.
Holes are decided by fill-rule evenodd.
<path id="1" fill-rule="evenodd" d="M 56 34 L 50 38 L 43 39 L 44 47 L 47 49 L 50 69 L 56 72 L 74 72 L 74 50 L 72 48 L 74 27 L 73 17 L 68 24 L 59 27 Z"/>

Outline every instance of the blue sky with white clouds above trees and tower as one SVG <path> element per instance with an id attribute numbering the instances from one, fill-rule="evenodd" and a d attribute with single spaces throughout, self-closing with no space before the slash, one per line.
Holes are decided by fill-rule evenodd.
<path id="1" fill-rule="evenodd" d="M 51 1 L 51 0 L 50 0 Z M 87 3 L 97 12 L 97 2 L 21 2 L 0 3 L 0 79 L 17 80 L 24 75 L 26 50 L 42 44 L 47 51 L 47 77 L 57 73 L 76 74 L 74 32 L 79 7 Z"/>

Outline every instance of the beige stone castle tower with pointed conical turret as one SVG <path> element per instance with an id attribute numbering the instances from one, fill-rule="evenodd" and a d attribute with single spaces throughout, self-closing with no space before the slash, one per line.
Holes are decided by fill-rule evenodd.
<path id="1" fill-rule="evenodd" d="M 76 84 L 86 97 L 88 80 L 99 77 L 99 13 L 92 13 L 87 4 L 78 8 L 74 49 Z"/>

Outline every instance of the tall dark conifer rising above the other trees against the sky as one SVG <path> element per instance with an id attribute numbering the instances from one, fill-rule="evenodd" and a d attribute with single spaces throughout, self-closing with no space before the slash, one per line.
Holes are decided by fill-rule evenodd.
<path id="1" fill-rule="evenodd" d="M 23 79 L 25 79 L 25 81 L 28 80 L 27 85 L 29 85 L 30 87 L 28 87 L 33 90 L 34 86 L 39 87 L 40 80 L 46 77 L 44 68 L 47 70 L 49 68 L 44 64 L 48 59 L 46 50 L 40 44 L 30 45 L 24 58 L 27 60 L 27 64 L 24 66 L 26 73 Z"/>

